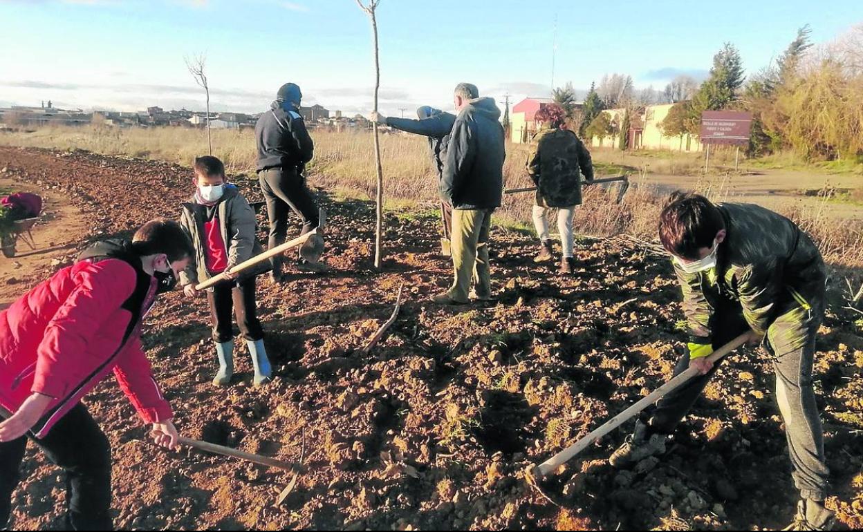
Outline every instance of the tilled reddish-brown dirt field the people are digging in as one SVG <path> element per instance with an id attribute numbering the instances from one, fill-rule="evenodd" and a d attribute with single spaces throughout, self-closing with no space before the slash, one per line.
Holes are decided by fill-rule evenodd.
<path id="1" fill-rule="evenodd" d="M 82 245 L 176 217 L 192 191 L 187 168 L 90 153 L 0 148 L 0 167 L 74 203 L 89 228 Z M 260 199 L 254 181 L 238 185 Z M 529 236 L 496 230 L 499 301 L 444 308 L 427 302 L 450 280 L 433 216 L 388 216 L 385 271 L 377 273 L 371 204 L 319 197 L 332 272 L 296 272 L 287 285 L 261 280 L 259 288 L 273 385 L 251 387 L 245 347 L 236 385 L 210 384 L 216 361 L 203 298 L 165 297 L 144 334 L 180 431 L 302 462 L 293 491 L 278 504 L 292 474 L 154 448 L 109 381 L 85 402 L 112 444 L 118 528 L 755 529 L 791 521 L 797 496 L 772 369 L 749 348 L 723 366 L 663 460 L 625 473 L 608 466 L 627 423 L 544 484 L 559 505 L 526 485 L 527 465 L 670 376 L 683 316 L 668 260 L 623 238 L 583 240 L 576 274 L 560 277 L 532 263 Z M 19 274 L 21 290 L 56 267 Z M 398 321 L 362 356 L 401 284 Z M 836 493 L 828 505 L 860 528 L 863 340 L 840 311 L 822 328 L 816 391 Z M 24 473 L 13 526 L 60 527 L 59 470 L 31 445 Z"/>

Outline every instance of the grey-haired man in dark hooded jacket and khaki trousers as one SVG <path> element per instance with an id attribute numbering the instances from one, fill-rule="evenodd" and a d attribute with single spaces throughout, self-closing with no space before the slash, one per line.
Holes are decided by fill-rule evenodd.
<path id="1" fill-rule="evenodd" d="M 452 205 L 452 265 L 449 291 L 432 297 L 438 304 L 466 304 L 491 299 L 488 232 L 491 213 L 501 206 L 504 152 L 501 110 L 494 99 L 479 97 L 476 85 L 456 87 L 458 110 L 446 148 L 440 197 Z M 469 289 L 473 285 L 473 297 Z"/>

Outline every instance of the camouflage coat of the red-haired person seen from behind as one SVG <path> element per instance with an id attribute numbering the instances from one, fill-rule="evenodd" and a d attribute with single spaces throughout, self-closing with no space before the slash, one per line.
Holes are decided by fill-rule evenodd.
<path id="1" fill-rule="evenodd" d="M 593 181 L 590 152 L 575 133 L 567 129 L 540 129 L 527 157 L 527 173 L 538 187 L 537 204 L 542 207 L 572 207 L 582 204 L 582 177 Z"/>

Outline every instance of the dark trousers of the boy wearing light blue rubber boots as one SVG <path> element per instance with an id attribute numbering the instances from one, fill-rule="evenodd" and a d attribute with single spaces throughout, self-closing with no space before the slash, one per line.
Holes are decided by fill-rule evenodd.
<path id="1" fill-rule="evenodd" d="M 210 316 L 213 324 L 213 341 L 223 343 L 234 338 L 231 310 L 236 315 L 240 334 L 248 341 L 263 339 L 264 331 L 255 305 L 255 278 L 240 279 L 235 283 L 219 283 L 207 291 Z"/>

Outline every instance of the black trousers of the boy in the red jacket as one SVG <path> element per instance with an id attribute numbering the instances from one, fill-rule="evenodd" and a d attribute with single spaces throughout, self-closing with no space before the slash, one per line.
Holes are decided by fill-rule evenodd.
<path id="1" fill-rule="evenodd" d="M 66 476 L 66 529 L 110 530 L 110 444 L 86 407 L 77 404 L 32 440 Z M 25 448 L 27 436 L 0 443 L 0 528 L 9 521 Z"/>

